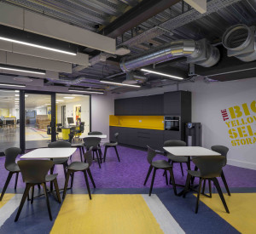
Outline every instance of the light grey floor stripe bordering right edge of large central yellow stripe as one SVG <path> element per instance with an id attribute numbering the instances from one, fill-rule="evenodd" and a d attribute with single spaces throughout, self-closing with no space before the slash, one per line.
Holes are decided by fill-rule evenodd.
<path id="1" fill-rule="evenodd" d="M 152 194 L 151 197 L 149 197 L 148 194 L 142 194 L 142 196 L 165 234 L 185 233 L 181 226 L 178 225 L 177 221 L 174 220 L 172 214 L 170 214 L 164 204 L 161 203 L 157 195 Z"/>

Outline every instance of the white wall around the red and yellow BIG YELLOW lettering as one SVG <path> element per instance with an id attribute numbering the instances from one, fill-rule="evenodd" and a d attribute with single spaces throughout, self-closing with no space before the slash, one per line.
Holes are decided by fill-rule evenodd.
<path id="1" fill-rule="evenodd" d="M 116 99 L 134 96 L 163 94 L 177 90 L 177 85 L 163 88 L 152 88 L 143 91 L 129 92 L 115 95 Z M 230 148 L 228 163 L 244 168 L 256 169 L 256 143 L 244 146 L 232 146 L 229 129 L 221 115 L 221 110 L 232 106 L 248 106 L 256 100 L 256 78 L 242 79 L 225 83 L 204 83 L 198 79 L 195 83 L 183 83 L 179 90 L 192 92 L 192 122 L 202 124 L 203 146 L 210 148 L 212 145 L 224 145 Z M 250 107 L 249 107 L 250 108 Z M 256 113 L 251 112 L 251 117 Z M 240 117 L 246 119 L 246 117 Z M 251 124 L 254 136 L 256 135 L 256 120 Z M 236 131 L 237 131 L 237 127 Z M 245 134 L 245 133 L 244 133 Z"/>

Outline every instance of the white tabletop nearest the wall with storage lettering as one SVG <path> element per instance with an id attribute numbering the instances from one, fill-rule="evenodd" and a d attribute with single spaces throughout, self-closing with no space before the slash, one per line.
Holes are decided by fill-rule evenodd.
<path id="1" fill-rule="evenodd" d="M 164 150 L 176 156 L 213 156 L 220 155 L 216 151 L 208 150 L 200 146 L 172 146 L 164 147 Z"/>

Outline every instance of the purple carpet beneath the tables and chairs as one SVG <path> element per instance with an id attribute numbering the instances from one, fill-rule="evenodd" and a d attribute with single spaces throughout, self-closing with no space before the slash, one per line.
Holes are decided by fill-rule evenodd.
<path id="1" fill-rule="evenodd" d="M 103 149 L 102 149 L 103 150 Z M 90 170 L 97 188 L 143 188 L 143 182 L 148 172 L 147 151 L 140 151 L 124 146 L 118 146 L 120 163 L 112 148 L 108 149 L 106 163 L 102 163 L 102 168 L 97 163 L 93 163 Z M 0 188 L 3 188 L 8 172 L 4 168 L 4 157 L 0 157 Z M 157 156 L 155 159 L 166 159 L 163 156 Z M 80 161 L 79 151 L 73 154 L 72 161 Z M 69 160 L 68 163 L 71 163 Z M 194 168 L 192 166 L 192 168 Z M 174 176 L 177 184 L 184 184 L 186 180 L 186 165 L 183 164 L 184 176 L 181 174 L 179 163 L 174 164 Z M 60 187 L 64 186 L 64 173 L 61 165 L 55 167 L 55 173 L 58 173 L 58 183 Z M 166 185 L 163 171 L 156 172 L 154 187 L 170 187 Z M 238 168 L 227 165 L 224 167 L 224 174 L 230 188 L 234 187 L 256 187 L 256 170 Z M 149 187 L 151 176 L 148 179 L 146 187 Z M 221 183 L 223 186 L 223 184 Z M 10 181 L 9 188 L 14 188 L 15 176 Z M 77 172 L 74 177 L 74 188 L 85 188 L 84 174 Z M 19 177 L 18 187 L 24 187 L 21 175 Z"/>

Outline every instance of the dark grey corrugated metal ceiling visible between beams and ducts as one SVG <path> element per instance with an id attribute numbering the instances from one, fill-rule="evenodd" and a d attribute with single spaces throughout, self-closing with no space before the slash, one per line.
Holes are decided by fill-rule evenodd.
<path id="1" fill-rule="evenodd" d="M 49 15 L 80 26 L 90 31 L 97 31 L 108 26 L 126 11 L 142 2 L 139 0 L 5 0 L 24 9 L 40 14 Z M 256 0 L 211 0 L 207 1 L 207 13 L 200 14 L 191 9 L 183 1 L 166 9 L 153 18 L 146 20 L 133 33 L 127 31 L 117 37 L 117 45 L 125 45 L 131 49 L 131 54 L 141 53 L 146 49 L 157 47 L 172 40 L 206 37 L 211 43 L 219 43 L 227 27 L 237 23 L 248 26 L 256 24 Z M 160 27 L 156 27 L 160 26 Z M 135 32 L 137 31 L 137 32 Z M 84 50 L 87 53 L 91 49 Z M 70 79 L 84 76 L 88 78 L 102 78 L 119 73 L 119 57 L 110 58 L 107 62 L 100 62 L 95 66 L 86 68 L 73 74 L 61 74 Z M 188 70 L 184 62 L 172 63 L 172 67 Z"/>

